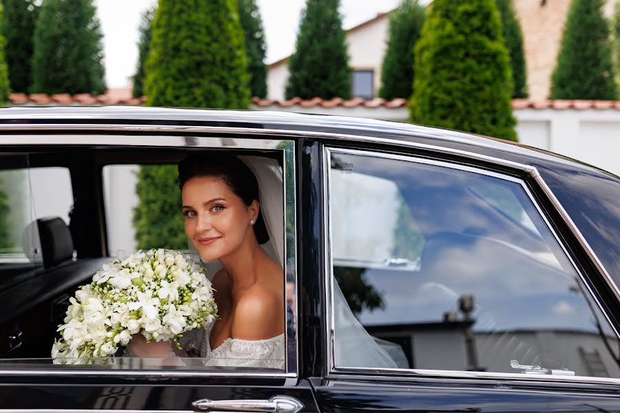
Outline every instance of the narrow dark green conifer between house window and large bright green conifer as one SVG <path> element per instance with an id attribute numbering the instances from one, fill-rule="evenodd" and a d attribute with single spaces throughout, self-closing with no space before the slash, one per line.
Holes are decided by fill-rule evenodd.
<path id="1" fill-rule="evenodd" d="M 424 8 L 417 0 L 404 0 L 390 16 L 387 49 L 381 68 L 381 89 L 384 99 L 411 96 L 415 75 L 413 46 L 420 39 L 424 24 Z"/>

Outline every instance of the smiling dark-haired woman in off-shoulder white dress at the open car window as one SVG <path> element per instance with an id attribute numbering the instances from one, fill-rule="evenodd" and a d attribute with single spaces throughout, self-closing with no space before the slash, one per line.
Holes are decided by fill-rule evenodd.
<path id="1" fill-rule="evenodd" d="M 205 366 L 285 368 L 285 277 L 260 246 L 269 234 L 260 211 L 256 176 L 221 153 L 191 154 L 178 165 L 185 234 L 200 258 L 219 260 L 212 279 L 219 319 L 181 340 L 146 343 L 134 335 L 134 357 L 195 355 Z M 280 218 L 282 219 L 282 218 Z"/>

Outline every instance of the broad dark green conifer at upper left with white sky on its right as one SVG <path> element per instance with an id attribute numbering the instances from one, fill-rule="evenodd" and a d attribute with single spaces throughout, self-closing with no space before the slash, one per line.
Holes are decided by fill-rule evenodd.
<path id="1" fill-rule="evenodd" d="M 103 33 L 92 0 L 45 0 L 34 28 L 32 93 L 103 94 Z"/>

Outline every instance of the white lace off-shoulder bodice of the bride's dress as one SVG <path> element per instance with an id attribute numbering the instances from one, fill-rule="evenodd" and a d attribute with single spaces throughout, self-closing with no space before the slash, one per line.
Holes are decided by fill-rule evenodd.
<path id="1" fill-rule="evenodd" d="M 214 323 L 207 330 L 196 329 L 185 333 L 180 343 L 187 352 L 200 354 L 204 366 L 275 368 L 285 370 L 286 339 L 284 333 L 264 340 L 228 338 L 211 349 L 209 335 Z"/>

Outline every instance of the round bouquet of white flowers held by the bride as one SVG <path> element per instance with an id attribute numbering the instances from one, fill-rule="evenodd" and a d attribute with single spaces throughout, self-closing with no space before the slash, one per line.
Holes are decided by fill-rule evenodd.
<path id="1" fill-rule="evenodd" d="M 59 364 L 90 364 L 110 357 L 142 332 L 148 340 L 172 340 L 206 328 L 217 315 L 211 282 L 183 254 L 165 249 L 138 251 L 116 259 L 70 298 L 61 339 L 52 359 Z M 107 359 L 101 359 L 107 363 Z"/>

